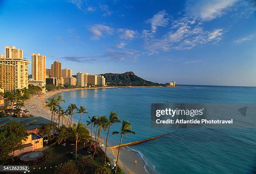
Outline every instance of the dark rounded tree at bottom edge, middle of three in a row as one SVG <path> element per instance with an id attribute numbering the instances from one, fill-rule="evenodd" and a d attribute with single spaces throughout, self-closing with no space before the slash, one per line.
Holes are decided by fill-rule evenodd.
<path id="1" fill-rule="evenodd" d="M 79 167 L 82 168 L 84 174 L 92 174 L 97 168 L 97 163 L 91 156 L 82 156 L 82 158 L 79 159 L 78 164 Z"/>

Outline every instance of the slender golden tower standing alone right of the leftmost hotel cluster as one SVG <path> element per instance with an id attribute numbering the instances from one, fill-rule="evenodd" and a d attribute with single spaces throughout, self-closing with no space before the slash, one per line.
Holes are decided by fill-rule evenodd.
<path id="1" fill-rule="evenodd" d="M 46 77 L 46 56 L 32 54 L 32 78 L 45 81 Z"/>

